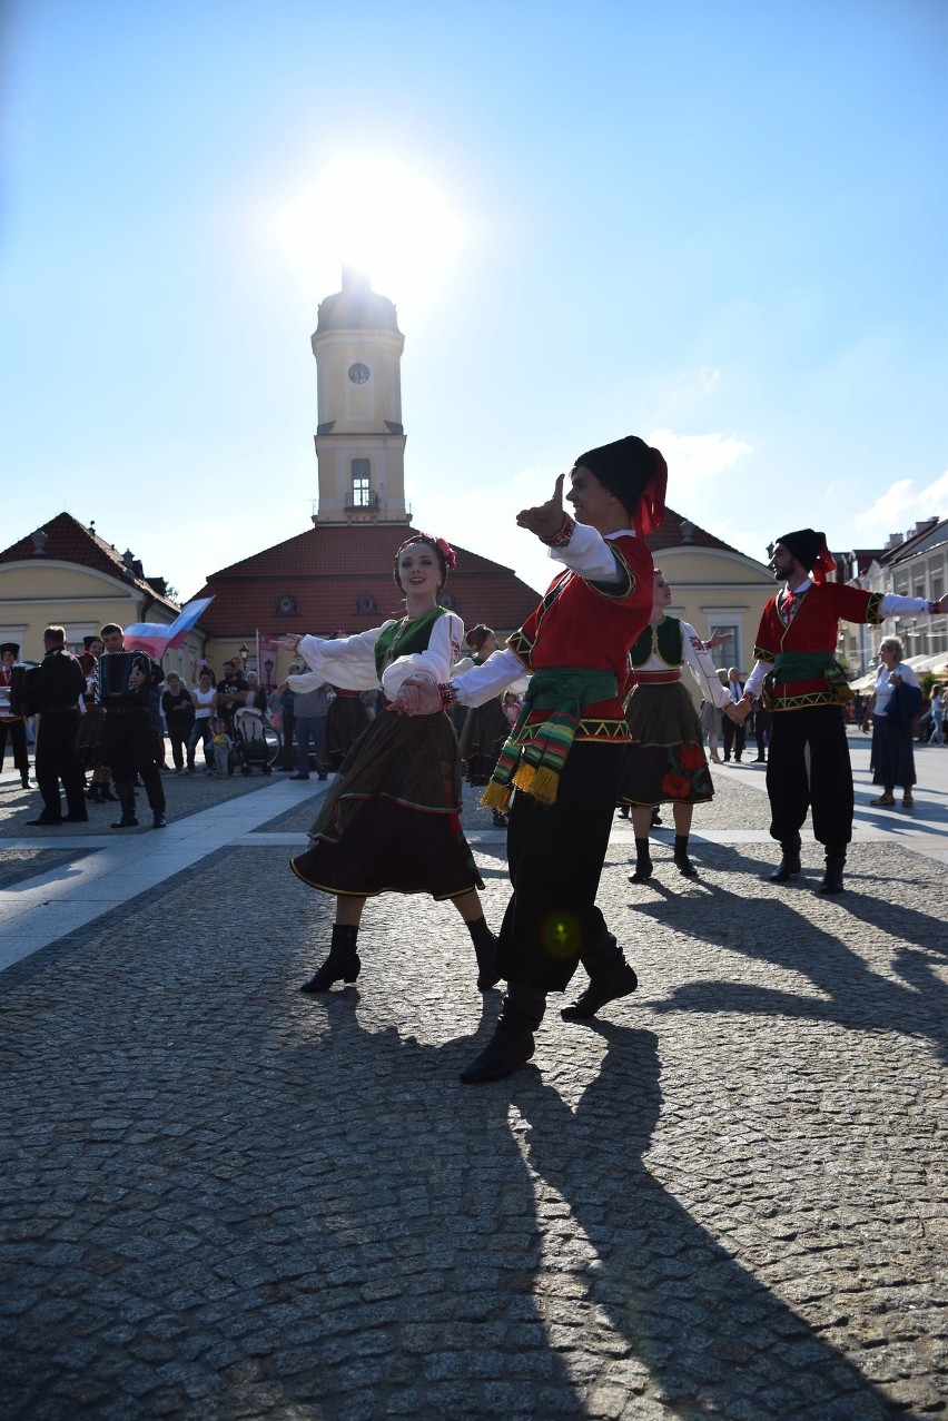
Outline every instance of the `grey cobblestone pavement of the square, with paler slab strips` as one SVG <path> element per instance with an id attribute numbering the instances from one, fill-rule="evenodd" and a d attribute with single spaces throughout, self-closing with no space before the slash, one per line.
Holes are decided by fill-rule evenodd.
<path id="1" fill-rule="evenodd" d="M 115 853 L 212 799 L 230 840 L 0 973 L 0 1415 L 948 1414 L 948 755 L 924 769 L 911 823 L 858 769 L 836 899 L 812 843 L 762 881 L 759 767 L 715 774 L 694 884 L 664 833 L 630 885 L 617 821 L 638 993 L 591 1026 L 551 999 L 480 1088 L 500 998 L 448 904 L 370 904 L 358 985 L 301 996 L 331 902 L 286 861 L 321 786 L 172 782 L 169 830 Z M 0 911 L 112 853 L 0 790 Z M 465 824 L 497 922 L 503 834 Z"/>

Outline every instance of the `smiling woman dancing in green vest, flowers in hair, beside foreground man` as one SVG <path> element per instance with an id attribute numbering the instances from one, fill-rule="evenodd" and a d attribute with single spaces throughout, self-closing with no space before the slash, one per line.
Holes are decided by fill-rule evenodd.
<path id="1" fill-rule="evenodd" d="M 443 539 L 412 534 L 395 554 L 395 584 L 405 615 L 357 637 L 290 638 L 311 671 L 289 676 L 291 691 L 325 681 L 348 691 L 379 685 L 391 702 L 406 676 L 435 688 L 451 675 L 463 622 L 438 605 L 455 567 Z M 436 692 L 435 692 L 436 698 Z M 478 897 L 483 888 L 460 830 L 458 737 L 441 702 L 432 715 L 409 720 L 377 715 L 352 745 L 310 830 L 311 848 L 291 861 L 310 888 L 335 894 L 330 955 L 301 988 L 328 992 L 354 982 L 355 951 L 365 899 L 382 892 L 428 892 L 449 898 L 465 919 L 478 958 L 478 986 L 497 982 L 496 942 Z"/>

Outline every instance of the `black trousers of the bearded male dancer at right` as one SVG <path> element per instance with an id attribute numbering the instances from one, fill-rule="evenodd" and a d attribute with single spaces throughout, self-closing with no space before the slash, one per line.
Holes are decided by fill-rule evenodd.
<path id="1" fill-rule="evenodd" d="M 841 706 L 775 710 L 767 756 L 770 837 L 792 843 L 806 811 L 822 844 L 853 837 L 853 767 Z"/>

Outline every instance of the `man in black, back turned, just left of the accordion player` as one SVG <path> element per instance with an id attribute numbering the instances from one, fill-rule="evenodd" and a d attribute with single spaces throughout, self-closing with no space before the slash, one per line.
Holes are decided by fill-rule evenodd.
<path id="1" fill-rule="evenodd" d="M 80 725 L 80 696 L 85 676 L 75 657 L 65 649 L 63 627 L 43 632 L 44 657 L 27 671 L 26 699 L 30 715 L 38 715 L 36 736 L 36 780 L 43 796 L 43 813 L 28 824 L 84 824 L 88 821 L 82 772 L 75 750 Z M 63 814 L 60 780 L 65 793 Z"/>

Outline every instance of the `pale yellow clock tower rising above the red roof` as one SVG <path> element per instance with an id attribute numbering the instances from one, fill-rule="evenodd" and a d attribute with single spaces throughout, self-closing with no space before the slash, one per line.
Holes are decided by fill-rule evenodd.
<path id="1" fill-rule="evenodd" d="M 408 523 L 401 355 L 395 307 L 343 267 L 313 335 L 320 500 L 313 522 Z"/>

